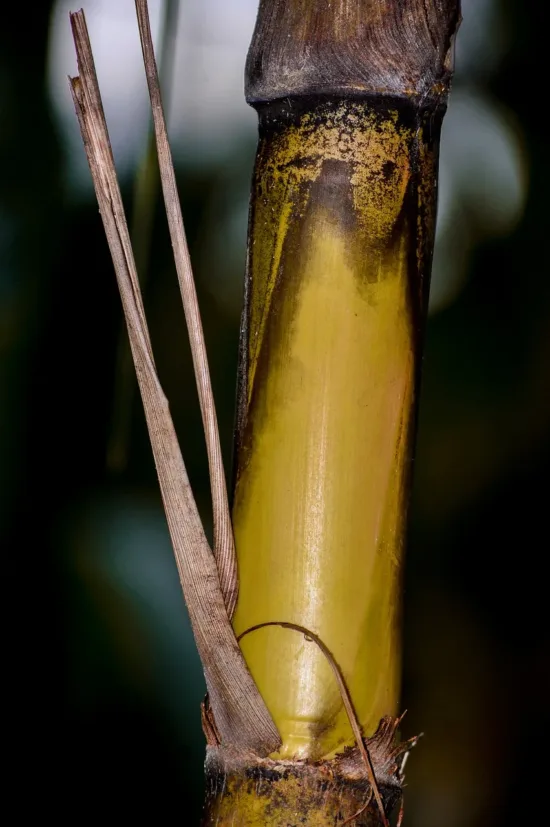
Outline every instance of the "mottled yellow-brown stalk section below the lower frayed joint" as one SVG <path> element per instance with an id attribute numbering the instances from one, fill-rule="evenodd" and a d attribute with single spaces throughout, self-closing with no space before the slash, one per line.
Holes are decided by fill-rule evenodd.
<path id="1" fill-rule="evenodd" d="M 400 808 L 403 758 L 413 746 L 396 744 L 398 724 L 383 718 L 366 739 L 388 820 Z M 312 763 L 209 746 L 206 790 L 202 827 L 336 827 L 348 819 L 355 827 L 383 824 L 357 748 Z"/>

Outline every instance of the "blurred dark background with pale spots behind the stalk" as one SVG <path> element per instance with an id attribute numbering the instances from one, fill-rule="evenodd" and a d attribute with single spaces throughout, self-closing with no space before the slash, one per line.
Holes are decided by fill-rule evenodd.
<path id="1" fill-rule="evenodd" d="M 169 117 L 227 465 L 255 116 L 255 0 L 181 0 Z M 169 12 L 174 12 L 173 0 Z M 8 754 L 20 812 L 197 823 L 202 676 L 139 399 L 109 468 L 121 314 L 66 75 L 60 0 L 0 27 L 0 547 Z M 131 0 L 84 4 L 130 208 L 146 91 Z M 440 221 L 407 556 L 410 827 L 527 820 L 549 736 L 550 470 L 543 4 L 469 0 L 443 133 Z M 177 11 L 177 9 L 176 9 Z M 156 205 L 146 306 L 209 522 L 190 356 Z M 115 411 L 115 413 L 114 413 Z M 11 740 L 10 740 L 11 744 Z M 22 792 L 21 792 L 22 791 Z M 534 820 L 539 820 L 535 811 Z"/>

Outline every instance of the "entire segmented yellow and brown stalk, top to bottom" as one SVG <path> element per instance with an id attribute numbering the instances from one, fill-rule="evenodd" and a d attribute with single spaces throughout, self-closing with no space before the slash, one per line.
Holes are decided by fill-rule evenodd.
<path id="1" fill-rule="evenodd" d="M 457 0 L 262 0 L 247 62 L 260 140 L 240 353 L 234 628 L 284 620 L 311 630 L 337 662 L 365 736 L 381 720 L 395 724 L 399 705 L 400 581 L 458 19 Z M 386 812 L 370 800 L 354 817 L 357 778 L 369 785 L 360 764 L 342 770 L 354 736 L 326 658 L 284 628 L 241 645 L 282 738 L 256 767 L 268 798 L 277 781 L 278 803 L 254 809 L 242 767 L 213 747 L 206 823 L 384 824 L 402 782 L 395 726 L 373 757 Z M 338 789 L 325 787 L 322 806 L 315 793 L 302 822 L 291 779 L 298 773 L 297 790 L 309 790 L 313 762 Z"/>

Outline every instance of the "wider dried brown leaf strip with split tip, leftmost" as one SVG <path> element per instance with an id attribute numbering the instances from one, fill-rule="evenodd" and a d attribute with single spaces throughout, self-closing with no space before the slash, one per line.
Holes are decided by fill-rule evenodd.
<path id="1" fill-rule="evenodd" d="M 235 640 L 157 376 L 94 60 L 82 11 L 71 15 L 80 76 L 73 101 L 117 276 L 170 536 L 222 742 L 266 755 L 279 734 Z"/>

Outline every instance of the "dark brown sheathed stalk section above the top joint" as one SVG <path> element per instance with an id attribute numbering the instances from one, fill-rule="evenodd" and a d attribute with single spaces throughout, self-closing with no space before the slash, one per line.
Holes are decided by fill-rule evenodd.
<path id="1" fill-rule="evenodd" d="M 249 103 L 295 95 L 446 97 L 460 0 L 260 0 Z"/>

